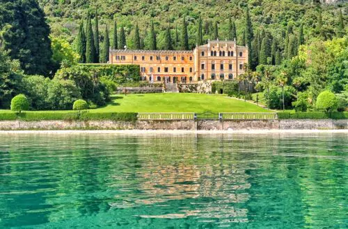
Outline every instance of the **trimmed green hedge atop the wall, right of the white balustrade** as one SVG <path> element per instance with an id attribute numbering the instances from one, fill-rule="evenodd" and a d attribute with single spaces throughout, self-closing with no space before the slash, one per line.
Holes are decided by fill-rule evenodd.
<path id="1" fill-rule="evenodd" d="M 348 119 L 348 112 L 278 112 L 278 119 Z"/>

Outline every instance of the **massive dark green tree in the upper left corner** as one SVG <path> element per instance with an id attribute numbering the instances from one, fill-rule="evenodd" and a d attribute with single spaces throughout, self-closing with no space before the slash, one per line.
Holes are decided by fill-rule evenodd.
<path id="1" fill-rule="evenodd" d="M 48 76 L 52 71 L 49 25 L 36 0 L 0 1 L 2 48 L 12 60 L 19 60 L 26 74 Z"/>

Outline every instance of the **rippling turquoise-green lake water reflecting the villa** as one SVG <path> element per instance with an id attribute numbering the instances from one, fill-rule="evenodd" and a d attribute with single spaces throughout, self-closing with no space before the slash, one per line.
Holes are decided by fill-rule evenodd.
<path id="1" fill-rule="evenodd" d="M 0 228 L 347 228 L 348 135 L 0 134 Z"/>

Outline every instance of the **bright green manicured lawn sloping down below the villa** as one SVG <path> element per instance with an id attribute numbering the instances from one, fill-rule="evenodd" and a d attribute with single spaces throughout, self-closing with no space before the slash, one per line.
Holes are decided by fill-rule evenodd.
<path id="1" fill-rule="evenodd" d="M 217 94 L 120 94 L 112 99 L 106 107 L 90 112 L 270 112 L 258 105 Z"/>

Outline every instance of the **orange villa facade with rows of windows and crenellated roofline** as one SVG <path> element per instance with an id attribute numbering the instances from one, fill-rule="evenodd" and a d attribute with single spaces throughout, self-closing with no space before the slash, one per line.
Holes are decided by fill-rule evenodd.
<path id="1" fill-rule="evenodd" d="M 193 51 L 111 49 L 109 63 L 139 65 L 142 80 L 152 83 L 197 83 L 234 79 L 244 73 L 248 47 L 235 41 L 208 41 Z"/>

